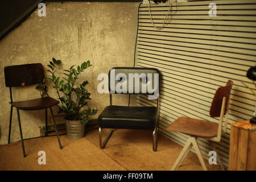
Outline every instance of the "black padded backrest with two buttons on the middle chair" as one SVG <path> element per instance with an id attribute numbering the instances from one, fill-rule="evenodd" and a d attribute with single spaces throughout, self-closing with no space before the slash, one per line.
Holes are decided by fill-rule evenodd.
<path id="1" fill-rule="evenodd" d="M 109 71 L 110 93 L 159 93 L 160 71 L 156 68 L 115 67 Z"/>

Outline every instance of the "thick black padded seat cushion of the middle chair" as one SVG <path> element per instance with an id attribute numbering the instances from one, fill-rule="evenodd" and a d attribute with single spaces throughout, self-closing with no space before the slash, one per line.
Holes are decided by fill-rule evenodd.
<path id="1" fill-rule="evenodd" d="M 98 117 L 101 128 L 154 130 L 156 107 L 107 106 Z"/>

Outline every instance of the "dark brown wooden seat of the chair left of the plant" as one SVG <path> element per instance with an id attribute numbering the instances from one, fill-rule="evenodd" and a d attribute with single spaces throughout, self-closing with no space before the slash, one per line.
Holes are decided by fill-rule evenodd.
<path id="1" fill-rule="evenodd" d="M 11 105 L 20 110 L 40 110 L 59 104 L 60 102 L 51 97 L 36 98 L 34 100 L 11 102 Z"/>

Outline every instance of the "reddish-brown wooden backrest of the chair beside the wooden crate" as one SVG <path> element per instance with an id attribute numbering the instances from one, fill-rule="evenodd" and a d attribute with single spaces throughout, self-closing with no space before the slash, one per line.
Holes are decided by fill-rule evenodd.
<path id="1" fill-rule="evenodd" d="M 220 117 L 221 105 L 224 97 L 226 98 L 224 115 L 226 114 L 226 112 L 229 109 L 228 105 L 229 105 L 229 98 L 230 98 L 230 92 L 231 92 L 232 86 L 233 86 L 233 81 L 228 80 L 228 82 L 226 82 L 226 86 L 221 86 L 216 90 L 216 93 L 212 101 L 212 106 L 210 106 L 211 117 Z"/>

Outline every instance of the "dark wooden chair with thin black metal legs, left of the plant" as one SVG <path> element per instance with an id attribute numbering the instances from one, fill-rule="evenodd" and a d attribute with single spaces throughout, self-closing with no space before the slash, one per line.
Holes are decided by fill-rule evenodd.
<path id="1" fill-rule="evenodd" d="M 23 156 L 26 157 L 25 150 L 24 150 L 24 143 L 23 143 L 23 136 L 22 136 L 22 127 L 20 125 L 20 116 L 19 110 L 46 110 L 46 135 L 47 135 L 47 108 L 50 109 L 51 115 L 53 118 L 53 123 L 55 126 L 55 131 L 57 135 L 57 139 L 59 142 L 60 149 L 62 149 L 59 134 L 56 129 L 56 122 L 52 112 L 52 106 L 58 105 L 59 101 L 51 98 L 51 97 L 43 97 L 36 98 L 34 100 L 27 100 L 27 101 L 13 101 L 13 94 L 12 94 L 12 87 L 18 86 L 28 86 L 33 84 L 40 84 L 43 82 L 44 79 L 44 71 L 43 65 L 40 63 L 36 64 L 23 64 L 23 65 L 14 65 L 5 67 L 5 85 L 10 88 L 10 98 L 11 98 L 11 113 L 10 113 L 10 125 L 9 125 L 9 137 L 8 143 L 10 143 L 11 137 L 11 119 L 13 116 L 13 107 L 16 107 L 17 114 L 18 114 L 18 122 L 19 122 L 19 132 L 20 138 L 22 142 L 22 150 Z"/>

